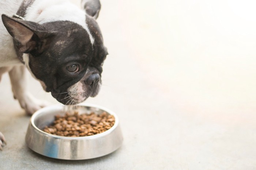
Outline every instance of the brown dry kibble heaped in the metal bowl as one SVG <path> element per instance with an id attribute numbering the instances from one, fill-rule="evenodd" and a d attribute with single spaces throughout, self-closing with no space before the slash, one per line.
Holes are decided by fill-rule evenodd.
<path id="1" fill-rule="evenodd" d="M 45 126 L 44 131 L 49 134 L 63 137 L 85 137 L 109 130 L 115 123 L 113 115 L 102 114 L 75 114 L 66 113 L 65 116 L 56 115 L 52 125 Z"/>

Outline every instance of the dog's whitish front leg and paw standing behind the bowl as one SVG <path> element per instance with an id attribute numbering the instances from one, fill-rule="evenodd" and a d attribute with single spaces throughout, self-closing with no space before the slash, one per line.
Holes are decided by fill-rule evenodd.
<path id="1" fill-rule="evenodd" d="M 46 102 L 34 98 L 27 91 L 25 66 L 15 66 L 9 71 L 14 98 L 19 100 L 19 104 L 25 109 L 27 114 L 33 114 L 38 109 L 47 105 Z"/>

